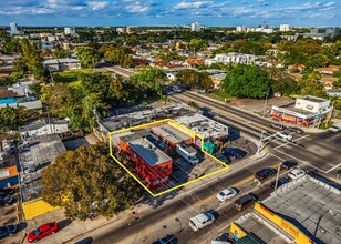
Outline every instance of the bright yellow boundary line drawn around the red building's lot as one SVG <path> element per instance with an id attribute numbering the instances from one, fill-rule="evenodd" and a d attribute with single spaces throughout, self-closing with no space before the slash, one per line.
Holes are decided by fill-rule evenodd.
<path id="1" fill-rule="evenodd" d="M 168 190 L 165 190 L 165 191 L 159 192 L 159 193 L 157 193 L 157 194 L 154 194 L 154 193 L 153 193 L 147 186 L 145 186 L 145 185 L 144 185 L 144 184 L 143 184 L 143 183 L 142 183 L 142 182 L 128 170 L 128 169 L 126 169 L 126 167 L 124 166 L 123 163 L 121 163 L 121 162 L 113 155 L 113 150 L 112 150 L 112 134 L 117 134 L 117 133 L 121 133 L 121 132 L 124 132 L 124 131 L 131 131 L 131 130 L 137 130 L 137 129 L 149 128 L 149 126 L 153 125 L 153 124 L 163 124 L 163 123 L 166 123 L 166 124 L 169 124 L 169 125 L 170 125 L 172 123 L 173 123 L 173 124 L 176 124 L 177 126 L 179 126 L 179 128 L 182 128 L 182 129 L 188 131 L 189 134 L 194 134 L 194 135 L 196 135 L 197 138 L 202 139 L 202 152 L 205 153 L 206 155 L 209 155 L 209 156 L 213 157 L 214 160 L 218 161 L 218 162 L 224 166 L 224 169 L 214 171 L 214 172 L 211 172 L 211 173 L 209 173 L 209 174 L 203 175 L 203 176 L 200 176 L 200 177 L 197 177 L 197 179 L 194 179 L 194 180 L 192 180 L 192 181 L 185 182 L 185 183 L 183 183 L 183 184 L 180 184 L 180 185 L 176 185 L 176 186 L 174 186 L 174 187 L 172 187 L 172 189 L 168 189 Z M 170 125 L 170 126 L 172 126 L 172 125 Z M 180 189 L 180 187 L 183 187 L 183 186 L 186 186 L 186 185 L 188 185 L 188 184 L 192 184 L 192 183 L 194 183 L 194 182 L 197 182 L 197 181 L 199 181 L 199 180 L 203 180 L 203 179 L 205 179 L 205 177 L 211 176 L 211 175 L 214 175 L 214 174 L 217 174 L 217 173 L 219 173 L 219 172 L 223 172 L 223 171 L 226 171 L 226 170 L 229 169 L 229 166 L 228 166 L 226 163 L 221 162 L 220 160 L 216 159 L 215 156 L 213 156 L 213 155 L 209 154 L 208 152 L 204 151 L 204 136 L 203 136 L 203 135 L 197 134 L 196 132 L 192 131 L 190 129 L 186 128 L 186 126 L 183 125 L 183 124 L 177 123 L 176 121 L 174 121 L 174 120 L 172 120 L 172 119 L 164 119 L 164 120 L 158 120 L 158 121 L 154 121 L 154 122 L 151 122 L 151 123 L 140 124 L 140 125 L 136 125 L 136 126 L 131 126 L 131 128 L 121 129 L 121 130 L 118 130 L 118 131 L 110 132 L 107 136 L 108 136 L 108 145 L 110 145 L 110 155 L 114 159 L 114 161 L 115 161 L 116 163 L 118 163 L 120 166 L 122 166 L 133 179 L 135 179 L 135 181 L 137 181 L 137 182 L 138 182 L 138 183 L 140 183 L 152 196 L 154 196 L 154 197 L 161 196 L 161 195 L 163 195 L 163 194 L 165 194 L 165 193 L 172 192 L 172 191 L 174 191 L 174 190 L 176 190 L 176 189 Z"/>

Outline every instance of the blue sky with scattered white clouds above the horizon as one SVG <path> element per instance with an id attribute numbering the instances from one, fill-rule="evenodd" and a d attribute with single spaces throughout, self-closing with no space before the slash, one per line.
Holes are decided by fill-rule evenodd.
<path id="1" fill-rule="evenodd" d="M 2 0 L 0 24 L 341 26 L 341 0 Z"/>

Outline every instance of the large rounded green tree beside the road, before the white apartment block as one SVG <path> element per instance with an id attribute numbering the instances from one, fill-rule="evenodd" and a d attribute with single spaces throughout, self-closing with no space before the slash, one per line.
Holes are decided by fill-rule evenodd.
<path id="1" fill-rule="evenodd" d="M 272 80 L 267 71 L 237 64 L 227 73 L 223 88 L 232 96 L 262 99 L 271 92 Z"/>

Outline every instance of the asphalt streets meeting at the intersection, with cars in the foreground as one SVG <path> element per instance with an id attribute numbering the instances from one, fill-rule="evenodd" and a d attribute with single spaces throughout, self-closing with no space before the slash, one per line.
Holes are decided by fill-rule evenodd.
<path id="1" fill-rule="evenodd" d="M 184 95 L 185 96 L 185 95 Z M 182 96 L 182 98 L 184 98 Z M 205 103 L 218 112 L 218 118 L 227 124 L 237 124 L 250 136 L 259 136 L 260 131 L 269 128 L 271 121 L 250 113 L 244 113 L 230 106 L 205 101 L 196 95 L 187 95 L 192 101 Z M 239 119 L 238 119 L 239 118 Z M 248 120 L 251 124 L 246 123 Z M 241 123 L 240 121 L 245 122 Z M 340 133 L 323 132 L 319 134 L 294 135 L 293 142 L 285 142 L 272 138 L 268 145 L 268 155 L 265 159 L 250 162 L 247 166 L 226 173 L 215 181 L 203 180 L 200 187 L 190 193 L 169 193 L 167 200 L 153 211 L 138 216 L 133 216 L 122 224 L 111 224 L 103 230 L 87 233 L 94 243 L 152 243 L 167 234 L 175 234 L 178 243 L 210 243 L 214 237 L 228 231 L 228 225 L 245 212 L 232 209 L 231 201 L 220 204 L 216 194 L 225 187 L 237 187 L 239 195 L 254 191 L 261 199 L 269 195 L 268 184 L 256 186 L 252 183 L 254 174 L 260 169 L 275 166 L 283 160 L 296 160 L 303 169 L 318 170 L 323 174 L 331 175 L 340 166 L 341 161 L 341 136 Z M 287 172 L 282 172 L 283 175 Z M 273 181 L 269 180 L 269 182 Z M 268 182 L 268 183 L 269 183 Z M 194 232 L 188 226 L 188 220 L 196 213 L 215 210 L 219 215 L 215 224 Z M 83 236 L 85 237 L 85 236 Z"/>

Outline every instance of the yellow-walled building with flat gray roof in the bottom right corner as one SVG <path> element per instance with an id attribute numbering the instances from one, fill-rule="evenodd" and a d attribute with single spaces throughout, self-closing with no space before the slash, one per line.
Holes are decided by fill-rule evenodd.
<path id="1" fill-rule="evenodd" d="M 237 243 L 341 242 L 341 185 L 306 175 L 280 186 L 231 223 Z M 249 242 L 248 242 L 249 241 Z"/>

